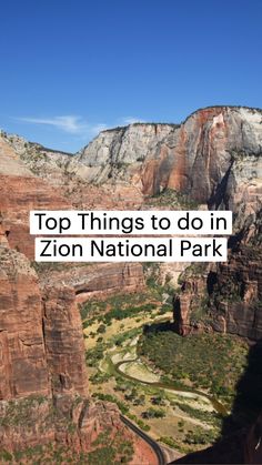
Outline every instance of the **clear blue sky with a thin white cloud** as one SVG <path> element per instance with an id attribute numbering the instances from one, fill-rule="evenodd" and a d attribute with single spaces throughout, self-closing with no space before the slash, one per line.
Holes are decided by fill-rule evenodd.
<path id="1" fill-rule="evenodd" d="M 47 146 L 262 107 L 261 0 L 9 0 L 0 16 L 0 128 Z"/>

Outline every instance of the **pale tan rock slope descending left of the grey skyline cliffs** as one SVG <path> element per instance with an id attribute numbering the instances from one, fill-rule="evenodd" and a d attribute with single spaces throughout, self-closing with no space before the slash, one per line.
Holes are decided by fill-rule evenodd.
<path id="1" fill-rule="evenodd" d="M 90 168 L 81 163 L 79 156 L 53 151 L 38 143 L 28 142 L 21 137 L 0 132 L 0 169 L 2 170 L 3 152 L 8 153 L 8 164 L 3 174 L 22 175 L 26 173 L 43 180 L 49 189 L 59 188 L 60 195 L 64 196 L 73 208 L 80 210 L 131 208 L 135 210 L 142 204 L 140 190 L 129 183 L 118 181 L 107 185 L 90 184 Z M 10 166 L 10 155 L 14 156 L 19 166 Z"/>

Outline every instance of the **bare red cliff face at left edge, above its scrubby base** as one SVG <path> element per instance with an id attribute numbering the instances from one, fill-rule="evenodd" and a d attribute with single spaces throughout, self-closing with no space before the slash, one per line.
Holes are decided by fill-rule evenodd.
<path id="1" fill-rule="evenodd" d="M 49 395 L 41 294 L 27 259 L 0 246 L 0 400 Z"/>

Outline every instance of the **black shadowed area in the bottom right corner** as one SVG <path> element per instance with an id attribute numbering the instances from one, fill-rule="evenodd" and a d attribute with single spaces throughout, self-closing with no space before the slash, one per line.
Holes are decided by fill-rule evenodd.
<path id="1" fill-rule="evenodd" d="M 218 443 L 172 463 L 261 464 L 262 422 L 256 422 L 261 413 L 262 340 L 253 343 L 250 347 L 246 368 L 236 385 L 232 412 L 223 419 L 221 437 Z"/>

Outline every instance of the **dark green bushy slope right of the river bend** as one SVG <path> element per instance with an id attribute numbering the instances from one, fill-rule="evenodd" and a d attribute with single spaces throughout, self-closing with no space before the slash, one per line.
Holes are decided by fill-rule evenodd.
<path id="1" fill-rule="evenodd" d="M 138 353 L 161 370 L 168 382 L 181 382 L 209 390 L 230 405 L 235 385 L 246 365 L 248 344 L 236 336 L 219 333 L 181 337 L 173 331 L 148 328 Z"/>

